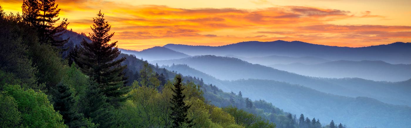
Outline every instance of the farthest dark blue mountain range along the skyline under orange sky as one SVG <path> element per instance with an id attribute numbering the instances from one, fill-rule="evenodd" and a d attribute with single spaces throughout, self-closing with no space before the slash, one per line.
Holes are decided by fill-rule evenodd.
<path id="1" fill-rule="evenodd" d="M 369 47 L 337 47 L 327 45 L 316 45 L 301 41 L 272 42 L 248 41 L 224 46 L 192 46 L 167 44 L 163 47 L 183 52 L 192 56 L 195 55 L 235 55 L 244 57 L 261 56 L 290 56 L 304 57 L 312 56 L 331 61 L 385 61 L 388 63 L 411 64 L 411 43 L 391 43 L 388 45 L 376 45 Z"/>

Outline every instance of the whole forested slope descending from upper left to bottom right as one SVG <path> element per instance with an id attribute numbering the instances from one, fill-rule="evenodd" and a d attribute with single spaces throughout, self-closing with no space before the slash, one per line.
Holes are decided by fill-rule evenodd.
<path id="1" fill-rule="evenodd" d="M 121 54 L 101 12 L 73 43 L 54 0 L 22 10 L 0 6 L 1 128 L 345 128 Z"/>

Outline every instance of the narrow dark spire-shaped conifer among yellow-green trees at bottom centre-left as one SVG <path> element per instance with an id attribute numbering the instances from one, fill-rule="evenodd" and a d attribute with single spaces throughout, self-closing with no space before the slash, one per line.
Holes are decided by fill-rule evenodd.
<path id="1" fill-rule="evenodd" d="M 180 127 L 183 124 L 189 124 L 189 126 L 192 126 L 192 120 L 187 119 L 187 110 L 191 106 L 187 106 L 184 102 L 185 95 L 182 94 L 184 88 L 182 87 L 181 81 L 181 75 L 175 75 L 173 84 L 174 88 L 172 89 L 174 94 L 171 99 L 171 119 L 173 120 L 174 127 Z"/>

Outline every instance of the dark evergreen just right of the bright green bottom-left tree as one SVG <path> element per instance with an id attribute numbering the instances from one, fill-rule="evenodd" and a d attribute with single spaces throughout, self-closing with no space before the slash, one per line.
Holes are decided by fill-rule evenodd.
<path id="1" fill-rule="evenodd" d="M 60 112 L 63 116 L 64 124 L 70 127 L 85 126 L 83 123 L 83 114 L 75 109 L 75 100 L 68 85 L 60 82 L 54 89 L 54 110 Z"/>

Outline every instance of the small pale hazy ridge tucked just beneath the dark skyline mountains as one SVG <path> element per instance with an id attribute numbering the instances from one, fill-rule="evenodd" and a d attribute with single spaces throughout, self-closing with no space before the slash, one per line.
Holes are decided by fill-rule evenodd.
<path id="1" fill-rule="evenodd" d="M 303 64 L 318 64 L 329 62 L 323 58 L 304 56 L 304 57 L 289 57 L 289 56 L 264 56 L 264 57 L 240 57 L 234 55 L 226 55 L 227 57 L 239 58 L 249 63 L 261 64 L 261 65 L 274 65 L 274 64 L 291 64 L 291 63 L 303 63 Z"/>

